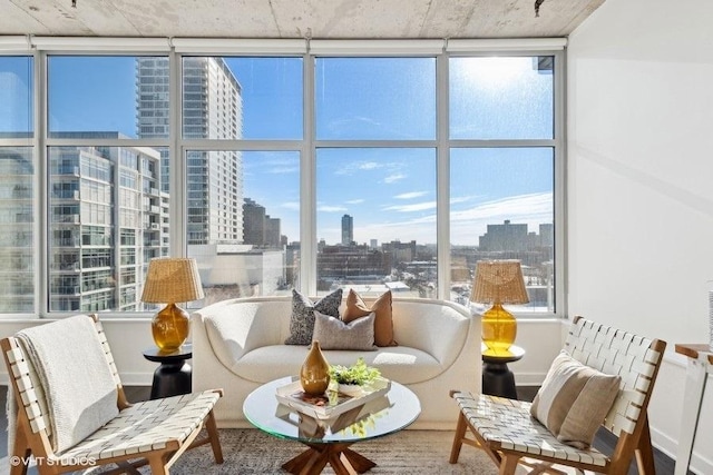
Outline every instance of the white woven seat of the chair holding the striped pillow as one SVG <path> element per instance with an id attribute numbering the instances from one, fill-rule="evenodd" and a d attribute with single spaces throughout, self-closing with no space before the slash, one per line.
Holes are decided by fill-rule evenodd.
<path id="1" fill-rule="evenodd" d="M 530 403 L 469 393 L 455 393 L 453 398 L 466 419 L 488 443 L 561 461 L 602 467 L 608 463 L 608 457 L 594 447 L 583 451 L 559 442 L 530 416 Z"/>

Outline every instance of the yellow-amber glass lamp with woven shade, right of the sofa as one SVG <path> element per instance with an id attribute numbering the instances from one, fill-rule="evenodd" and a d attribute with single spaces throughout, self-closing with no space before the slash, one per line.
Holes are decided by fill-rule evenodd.
<path id="1" fill-rule="evenodd" d="M 482 314 L 482 343 L 491 350 L 506 350 L 515 342 L 517 320 L 502 304 L 527 304 L 519 260 L 479 260 L 470 300 L 492 304 Z"/>

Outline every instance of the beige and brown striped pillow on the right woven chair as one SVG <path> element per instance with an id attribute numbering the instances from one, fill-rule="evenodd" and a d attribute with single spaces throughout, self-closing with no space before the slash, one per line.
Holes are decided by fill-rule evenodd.
<path id="1" fill-rule="evenodd" d="M 530 414 L 557 439 L 588 448 L 619 390 L 621 376 L 583 365 L 565 352 L 553 362 Z"/>

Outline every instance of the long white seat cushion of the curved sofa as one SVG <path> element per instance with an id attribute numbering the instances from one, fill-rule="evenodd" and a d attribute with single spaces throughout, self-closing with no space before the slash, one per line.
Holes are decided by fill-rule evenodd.
<path id="1" fill-rule="evenodd" d="M 262 384 L 299 375 L 307 352 L 307 347 L 296 345 L 263 346 L 226 366 L 236 375 Z M 361 356 L 368 365 L 378 367 L 383 377 L 401 384 L 422 383 L 443 372 L 431 355 L 407 346 L 379 348 L 377 352 L 333 349 L 323 350 L 322 354 L 329 364 L 343 366 L 353 365 Z"/>

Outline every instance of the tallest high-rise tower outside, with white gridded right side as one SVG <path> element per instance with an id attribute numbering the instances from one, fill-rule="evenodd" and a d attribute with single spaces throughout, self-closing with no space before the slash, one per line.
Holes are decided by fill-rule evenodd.
<path id="1" fill-rule="evenodd" d="M 168 59 L 136 60 L 137 133 L 168 137 Z M 222 58 L 184 58 L 184 138 L 240 139 L 241 86 Z M 168 155 L 162 150 L 162 182 L 168 181 Z M 188 245 L 243 240 L 243 164 L 238 151 L 188 151 L 186 161 Z"/>

